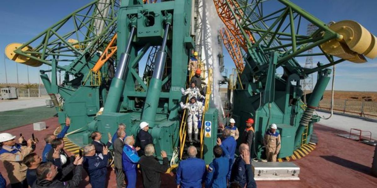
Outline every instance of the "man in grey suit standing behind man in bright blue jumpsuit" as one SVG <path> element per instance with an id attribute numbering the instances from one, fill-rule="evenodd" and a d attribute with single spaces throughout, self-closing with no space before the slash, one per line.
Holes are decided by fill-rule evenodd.
<path id="1" fill-rule="evenodd" d="M 116 132 L 117 138 L 114 139 L 114 165 L 115 165 L 115 174 L 116 174 L 116 188 L 124 187 L 124 171 L 122 167 L 122 153 L 124 147 L 124 138 L 126 137 L 126 132 L 124 130 L 118 130 Z"/>

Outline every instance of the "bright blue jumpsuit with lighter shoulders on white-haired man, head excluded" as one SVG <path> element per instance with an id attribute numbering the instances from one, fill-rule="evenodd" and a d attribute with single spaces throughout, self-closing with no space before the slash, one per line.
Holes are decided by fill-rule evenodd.
<path id="1" fill-rule="evenodd" d="M 140 158 L 135 147 L 124 145 L 122 153 L 123 171 L 127 176 L 127 188 L 136 187 L 136 168 Z"/>

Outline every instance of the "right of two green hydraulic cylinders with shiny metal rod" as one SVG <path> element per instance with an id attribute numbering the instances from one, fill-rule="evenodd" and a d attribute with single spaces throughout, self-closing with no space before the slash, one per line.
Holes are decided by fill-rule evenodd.
<path id="1" fill-rule="evenodd" d="M 141 121 L 146 121 L 149 123 L 149 127 L 155 126 L 155 117 L 156 111 L 158 107 L 158 98 L 161 94 L 161 86 L 162 86 L 162 73 L 164 72 L 165 61 L 166 61 L 166 43 L 167 43 L 167 35 L 169 33 L 170 24 L 166 24 L 165 26 L 165 33 L 164 38 L 162 39 L 162 44 L 157 52 L 155 58 L 155 67 L 152 75 L 152 79 L 150 80 L 147 97 L 145 100 L 145 104 L 143 107 L 143 115 L 141 116 Z"/>

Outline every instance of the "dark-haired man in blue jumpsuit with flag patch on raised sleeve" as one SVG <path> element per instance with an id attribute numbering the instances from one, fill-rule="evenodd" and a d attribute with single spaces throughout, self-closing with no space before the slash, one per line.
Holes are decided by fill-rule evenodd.
<path id="1" fill-rule="evenodd" d="M 226 155 L 223 155 L 223 153 L 226 153 Z M 213 159 L 211 164 L 208 166 L 205 187 L 227 187 L 227 175 L 230 167 L 230 159 L 224 144 L 221 144 L 220 138 L 218 138 L 218 146 L 213 147 L 213 155 L 215 155 L 215 159 Z"/>

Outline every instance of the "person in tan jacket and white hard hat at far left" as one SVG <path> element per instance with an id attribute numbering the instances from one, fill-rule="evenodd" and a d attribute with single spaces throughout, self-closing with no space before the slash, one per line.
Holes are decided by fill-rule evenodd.
<path id="1" fill-rule="evenodd" d="M 16 144 L 16 136 L 9 133 L 0 133 L 0 160 L 8 173 L 8 178 L 12 188 L 27 188 L 26 171 L 28 167 L 22 163 L 23 158 L 33 151 L 32 139 L 27 141 L 27 146 Z"/>

